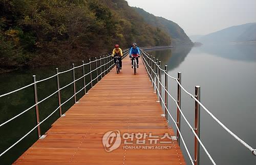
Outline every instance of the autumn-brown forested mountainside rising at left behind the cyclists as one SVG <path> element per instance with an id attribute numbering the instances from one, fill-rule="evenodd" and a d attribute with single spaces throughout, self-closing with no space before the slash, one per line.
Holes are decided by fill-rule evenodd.
<path id="1" fill-rule="evenodd" d="M 0 70 L 109 52 L 118 43 L 170 45 L 124 0 L 0 0 Z"/>

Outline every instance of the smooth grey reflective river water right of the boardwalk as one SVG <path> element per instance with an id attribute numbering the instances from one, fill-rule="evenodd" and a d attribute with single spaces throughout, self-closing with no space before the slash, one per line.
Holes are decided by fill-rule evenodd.
<path id="1" fill-rule="evenodd" d="M 253 148 L 256 147 L 256 46 L 203 45 L 147 51 L 168 66 L 168 74 L 177 77 L 182 72 L 182 85 L 195 94 L 201 87 L 201 102 L 224 125 Z M 162 80 L 164 75 L 162 74 Z M 171 94 L 177 98 L 177 83 L 168 79 Z M 184 91 L 181 108 L 194 127 L 195 101 Z M 168 108 L 176 119 L 176 105 L 169 99 Z M 170 118 L 169 118 L 170 119 Z M 176 128 L 173 121 L 170 126 Z M 176 129 L 175 129 L 176 132 Z M 194 136 L 181 117 L 181 132 L 194 157 Z M 256 157 L 238 143 L 201 108 L 201 140 L 217 164 L 256 164 Z M 183 154 L 188 156 L 184 146 Z M 211 164 L 202 148 L 200 164 Z"/>

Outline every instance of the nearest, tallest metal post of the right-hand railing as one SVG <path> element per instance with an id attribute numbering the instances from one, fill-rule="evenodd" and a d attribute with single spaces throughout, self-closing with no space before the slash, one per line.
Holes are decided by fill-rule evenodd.
<path id="1" fill-rule="evenodd" d="M 200 86 L 195 87 L 196 99 L 200 101 Z M 200 139 L 200 105 L 195 101 L 195 132 Z M 200 143 L 195 136 L 195 165 L 199 165 Z"/>

